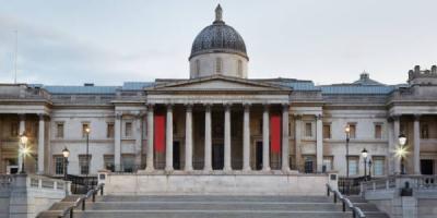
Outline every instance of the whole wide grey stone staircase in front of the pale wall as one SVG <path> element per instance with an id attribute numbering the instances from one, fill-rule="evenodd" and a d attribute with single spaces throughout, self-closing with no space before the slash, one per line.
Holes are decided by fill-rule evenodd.
<path id="1" fill-rule="evenodd" d="M 73 204 L 76 197 L 69 196 L 55 204 L 38 217 L 58 217 Z M 370 218 L 388 218 L 375 205 L 361 197 L 351 201 Z M 352 211 L 342 211 L 342 203 L 333 203 L 333 196 L 96 196 L 96 202 L 86 202 L 86 209 L 81 206 L 74 210 L 74 217 L 90 218 L 306 218 L 353 217 Z M 69 217 L 67 215 L 66 217 Z"/>

